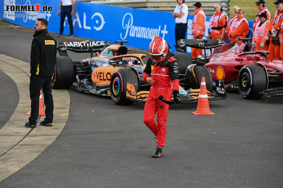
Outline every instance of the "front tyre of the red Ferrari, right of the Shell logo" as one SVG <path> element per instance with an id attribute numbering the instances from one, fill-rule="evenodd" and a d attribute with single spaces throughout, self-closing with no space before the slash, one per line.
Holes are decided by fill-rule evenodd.
<path id="1" fill-rule="evenodd" d="M 267 88 L 267 76 L 260 65 L 249 64 L 242 67 L 238 77 L 238 87 L 245 99 L 260 99 L 262 90 Z"/>

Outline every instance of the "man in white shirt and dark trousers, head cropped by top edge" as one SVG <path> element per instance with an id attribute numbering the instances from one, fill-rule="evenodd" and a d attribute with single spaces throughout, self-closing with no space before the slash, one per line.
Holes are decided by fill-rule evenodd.
<path id="1" fill-rule="evenodd" d="M 75 0 L 60 0 L 59 4 L 59 10 L 58 10 L 58 16 L 60 15 L 60 9 L 61 9 L 61 17 L 60 17 L 60 34 L 58 37 L 63 37 L 63 31 L 64 31 L 64 21 L 67 16 L 68 23 L 70 26 L 70 35 L 69 37 L 73 37 L 74 31 L 73 31 L 73 22 L 72 22 L 72 16 L 74 14 L 74 8 L 75 8 Z"/>

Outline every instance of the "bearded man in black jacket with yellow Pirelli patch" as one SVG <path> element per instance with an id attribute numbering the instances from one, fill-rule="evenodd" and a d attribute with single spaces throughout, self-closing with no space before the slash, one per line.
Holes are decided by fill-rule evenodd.
<path id="1" fill-rule="evenodd" d="M 30 54 L 30 83 L 29 94 L 31 99 L 31 115 L 25 127 L 36 128 L 39 97 L 42 88 L 44 104 L 46 106 L 44 121 L 40 125 L 53 126 L 53 97 L 51 92 L 51 80 L 54 73 L 57 54 L 57 41 L 48 34 L 48 22 L 44 18 L 38 18 L 34 24 L 34 35 L 31 42 Z"/>

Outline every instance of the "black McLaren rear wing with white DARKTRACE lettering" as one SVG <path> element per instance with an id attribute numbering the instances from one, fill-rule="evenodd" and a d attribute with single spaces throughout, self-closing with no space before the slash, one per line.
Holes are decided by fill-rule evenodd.
<path id="1" fill-rule="evenodd" d="M 91 53 L 93 57 L 93 52 L 101 52 L 109 46 L 108 41 L 71 41 L 71 42 L 59 42 L 57 50 L 60 56 L 68 56 L 67 50 L 76 53 Z"/>

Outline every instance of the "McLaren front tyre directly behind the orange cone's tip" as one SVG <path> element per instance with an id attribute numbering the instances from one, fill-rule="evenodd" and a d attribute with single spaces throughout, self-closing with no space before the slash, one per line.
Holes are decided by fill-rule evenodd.
<path id="1" fill-rule="evenodd" d="M 206 67 L 202 66 L 194 66 L 193 71 L 196 75 L 196 86 L 198 89 L 200 89 L 200 84 L 202 82 L 202 77 L 205 79 L 206 84 L 206 90 L 208 90 L 210 93 L 212 93 L 213 86 L 212 86 L 212 77 L 208 69 Z"/>

